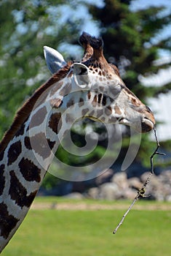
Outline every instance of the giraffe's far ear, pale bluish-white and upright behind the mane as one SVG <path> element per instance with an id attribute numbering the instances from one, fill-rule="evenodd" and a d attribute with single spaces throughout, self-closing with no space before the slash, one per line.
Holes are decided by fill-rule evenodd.
<path id="1" fill-rule="evenodd" d="M 44 46 L 44 58 L 46 59 L 47 67 L 52 74 L 57 72 L 66 64 L 63 56 L 57 50 L 48 46 Z"/>

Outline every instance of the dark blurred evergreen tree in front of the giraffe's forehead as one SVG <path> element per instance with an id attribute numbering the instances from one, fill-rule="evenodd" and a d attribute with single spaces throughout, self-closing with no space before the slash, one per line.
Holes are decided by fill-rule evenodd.
<path id="1" fill-rule="evenodd" d="M 171 24 L 171 12 L 165 7 L 146 7 L 132 11 L 132 0 L 105 0 L 103 7 L 88 5 L 90 13 L 98 22 L 100 35 L 105 44 L 105 56 L 108 61 L 119 67 L 124 83 L 143 102 L 149 97 L 157 97 L 160 93 L 167 93 L 171 83 L 165 86 L 151 87 L 140 83 L 139 75 L 148 76 L 156 73 L 159 68 L 167 68 L 170 63 L 155 64 L 161 50 L 171 50 L 169 36 L 160 37 L 163 29 Z M 143 135 L 138 159 L 149 166 L 149 155 L 153 151 L 148 135 Z M 120 159 L 127 152 L 124 143 Z"/>

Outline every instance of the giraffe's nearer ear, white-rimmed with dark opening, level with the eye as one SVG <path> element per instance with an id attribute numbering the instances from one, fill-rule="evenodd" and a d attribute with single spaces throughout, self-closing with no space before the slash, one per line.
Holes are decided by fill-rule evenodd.
<path id="1" fill-rule="evenodd" d="M 86 88 L 90 83 L 88 76 L 88 68 L 84 64 L 74 63 L 73 64 L 73 76 L 76 84 L 83 88 Z"/>

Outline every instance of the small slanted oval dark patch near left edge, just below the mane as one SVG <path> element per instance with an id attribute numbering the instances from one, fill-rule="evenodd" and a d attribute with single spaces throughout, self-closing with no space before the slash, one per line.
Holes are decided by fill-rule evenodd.
<path id="1" fill-rule="evenodd" d="M 17 157 L 20 155 L 21 153 L 21 142 L 20 140 L 13 143 L 10 147 L 9 147 L 9 151 L 8 151 L 8 165 L 11 165 L 12 162 L 15 162 L 15 160 L 17 159 Z"/>

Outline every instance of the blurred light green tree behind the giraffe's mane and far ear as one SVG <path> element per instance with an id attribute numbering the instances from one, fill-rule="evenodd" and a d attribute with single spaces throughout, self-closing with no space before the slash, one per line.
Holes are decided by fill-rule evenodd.
<path id="1" fill-rule="evenodd" d="M 67 0 L 0 2 L 0 138 L 21 102 L 49 76 L 43 46 L 57 48 L 78 38 L 81 20 L 63 19 L 67 4 L 74 8 Z"/>

